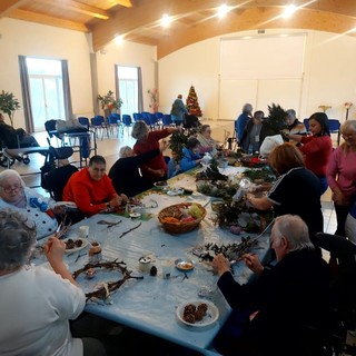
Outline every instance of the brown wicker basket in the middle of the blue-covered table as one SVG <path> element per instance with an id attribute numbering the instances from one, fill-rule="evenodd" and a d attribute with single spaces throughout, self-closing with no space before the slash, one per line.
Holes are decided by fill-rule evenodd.
<path id="1" fill-rule="evenodd" d="M 189 207 L 192 204 L 196 205 L 200 209 L 201 216 L 199 219 L 195 219 L 191 222 L 167 222 L 164 220 L 167 217 L 174 217 L 174 218 L 180 219 L 182 217 L 182 212 L 180 211 L 180 209 L 189 209 Z M 207 214 L 206 209 L 200 204 L 181 202 L 181 204 L 171 205 L 171 206 L 160 210 L 158 214 L 158 220 L 164 226 L 164 229 L 167 233 L 185 234 L 185 233 L 189 233 L 189 231 L 194 230 L 196 227 L 198 227 L 200 221 L 205 218 L 206 214 Z"/>

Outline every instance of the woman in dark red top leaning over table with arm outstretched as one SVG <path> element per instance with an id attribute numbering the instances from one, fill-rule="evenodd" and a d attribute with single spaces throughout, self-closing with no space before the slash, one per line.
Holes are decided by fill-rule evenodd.
<path id="1" fill-rule="evenodd" d="M 137 139 L 134 146 L 135 154 L 141 155 L 154 149 L 159 149 L 159 140 L 171 135 L 176 130 L 179 130 L 179 128 L 168 127 L 162 130 L 150 131 L 145 121 L 140 120 L 135 122 L 131 132 L 131 136 Z M 142 176 L 149 181 L 154 182 L 167 179 L 168 168 L 162 154 L 154 157 L 140 168 Z"/>

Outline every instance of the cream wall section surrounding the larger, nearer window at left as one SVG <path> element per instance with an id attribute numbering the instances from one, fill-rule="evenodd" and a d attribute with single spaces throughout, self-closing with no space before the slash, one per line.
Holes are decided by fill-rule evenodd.
<path id="1" fill-rule="evenodd" d="M 7 18 L 0 19 L 0 90 L 13 92 L 22 103 L 19 55 L 67 59 L 73 112 L 92 112 L 90 49 L 85 33 Z M 14 126 L 24 127 L 22 105 L 14 113 Z"/>

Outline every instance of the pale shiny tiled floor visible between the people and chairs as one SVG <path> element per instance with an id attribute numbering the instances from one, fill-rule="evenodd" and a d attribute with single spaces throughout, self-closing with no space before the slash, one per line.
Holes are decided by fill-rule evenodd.
<path id="1" fill-rule="evenodd" d="M 204 123 L 209 123 L 212 129 L 212 137 L 222 142 L 224 139 L 228 136 L 234 135 L 234 122 L 233 121 L 205 121 Z M 98 147 L 98 155 L 101 155 L 107 160 L 107 167 L 110 168 L 113 162 L 119 158 L 119 149 L 122 146 L 134 146 L 135 140 L 130 136 L 130 129 L 125 128 L 123 131 L 120 131 L 118 137 L 116 135 L 117 132 L 113 131 L 109 136 L 109 139 L 107 136 L 105 136 L 103 139 L 101 139 L 101 135 L 99 135 L 99 138 L 97 139 L 97 147 Z M 38 132 L 34 134 L 37 140 L 41 146 L 48 146 L 47 142 L 47 132 Z M 52 138 L 52 144 L 56 145 L 56 140 Z M 169 154 L 169 152 L 168 152 Z M 31 155 L 30 157 L 30 164 L 23 165 L 22 162 L 16 161 L 14 165 L 11 167 L 16 170 L 18 170 L 21 175 L 27 175 L 23 177 L 23 180 L 28 186 L 39 186 L 40 185 L 40 176 L 39 176 L 39 168 L 43 165 L 44 157 L 36 154 Z M 78 161 L 79 157 L 78 154 L 75 154 L 73 157 L 71 157 L 72 161 Z M 78 165 L 78 164 L 77 164 Z M 4 168 L 0 167 L 0 171 Z M 37 188 L 41 194 L 46 194 L 41 188 Z M 327 190 L 324 196 L 322 197 L 322 204 L 323 204 L 323 214 L 324 214 L 324 230 L 325 233 L 334 234 L 336 230 L 336 216 L 334 206 L 330 199 L 332 195 L 330 191 Z M 307 204 L 307 202 L 306 202 Z"/>

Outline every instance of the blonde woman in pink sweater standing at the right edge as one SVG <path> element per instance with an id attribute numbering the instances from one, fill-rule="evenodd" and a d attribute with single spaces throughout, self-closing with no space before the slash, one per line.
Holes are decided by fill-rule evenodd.
<path id="1" fill-rule="evenodd" d="M 333 152 L 326 177 L 336 211 L 335 234 L 345 236 L 346 217 L 356 194 L 356 120 L 345 121 L 340 131 L 344 142 Z"/>

